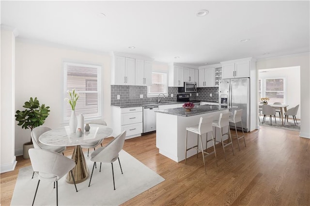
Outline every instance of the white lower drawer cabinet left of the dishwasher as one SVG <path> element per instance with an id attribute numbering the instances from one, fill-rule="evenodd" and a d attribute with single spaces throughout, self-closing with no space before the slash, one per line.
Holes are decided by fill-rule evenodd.
<path id="1" fill-rule="evenodd" d="M 126 139 L 140 136 L 143 132 L 142 107 L 120 108 L 112 106 L 113 136 L 117 136 L 124 130 Z"/>

